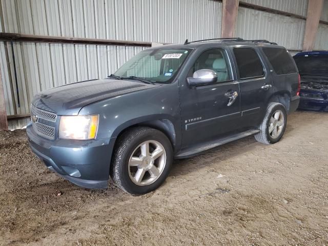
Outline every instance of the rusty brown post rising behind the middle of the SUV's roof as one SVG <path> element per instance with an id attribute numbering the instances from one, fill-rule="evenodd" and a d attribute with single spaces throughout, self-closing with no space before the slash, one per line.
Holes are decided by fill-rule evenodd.
<path id="1" fill-rule="evenodd" d="M 233 37 L 235 33 L 239 0 L 223 0 L 221 37 Z"/>

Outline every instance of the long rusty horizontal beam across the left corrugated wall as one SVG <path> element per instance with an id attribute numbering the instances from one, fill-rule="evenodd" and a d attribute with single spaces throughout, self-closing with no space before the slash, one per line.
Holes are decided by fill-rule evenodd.
<path id="1" fill-rule="evenodd" d="M 118 45 L 118 46 L 139 46 L 151 47 L 151 42 L 136 42 L 128 40 L 98 39 L 98 38 L 79 38 L 79 37 L 58 37 L 58 36 L 39 36 L 20 33 L 0 32 L 0 41 L 50 43 L 50 44 L 82 44 L 82 45 Z"/>

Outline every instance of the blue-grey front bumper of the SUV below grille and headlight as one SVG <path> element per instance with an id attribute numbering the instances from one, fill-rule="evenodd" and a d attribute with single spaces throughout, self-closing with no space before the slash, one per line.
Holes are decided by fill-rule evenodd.
<path id="1" fill-rule="evenodd" d="M 107 188 L 115 138 L 95 140 L 48 140 L 26 128 L 32 151 L 45 165 L 77 186 Z"/>

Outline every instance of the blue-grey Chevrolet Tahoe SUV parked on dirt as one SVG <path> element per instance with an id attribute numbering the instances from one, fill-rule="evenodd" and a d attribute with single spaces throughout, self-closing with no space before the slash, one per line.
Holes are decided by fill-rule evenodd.
<path id="1" fill-rule="evenodd" d="M 32 151 L 78 186 L 107 188 L 111 176 L 140 195 L 165 181 L 173 158 L 249 135 L 278 142 L 299 104 L 288 51 L 266 40 L 199 41 L 147 49 L 106 79 L 37 94 Z"/>

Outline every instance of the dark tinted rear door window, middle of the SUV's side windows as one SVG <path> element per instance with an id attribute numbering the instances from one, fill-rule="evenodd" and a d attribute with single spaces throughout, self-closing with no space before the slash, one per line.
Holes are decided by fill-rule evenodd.
<path id="1" fill-rule="evenodd" d="M 264 75 L 260 57 L 252 48 L 234 48 L 240 78 L 261 77 Z"/>

